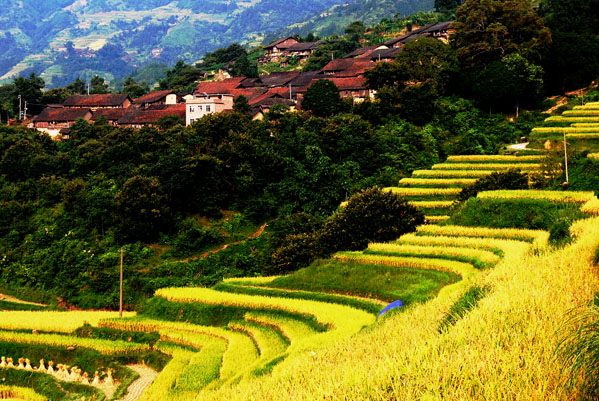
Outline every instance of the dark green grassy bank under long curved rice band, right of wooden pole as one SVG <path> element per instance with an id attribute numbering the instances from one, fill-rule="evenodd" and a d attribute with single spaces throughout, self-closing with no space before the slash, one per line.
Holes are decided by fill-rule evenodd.
<path id="1" fill-rule="evenodd" d="M 317 331 L 327 330 L 327 327 L 319 323 L 313 316 L 305 316 L 285 311 L 273 312 L 272 309 L 261 310 L 224 305 L 169 302 L 166 299 L 159 297 L 148 299 L 140 308 L 139 313 L 153 319 L 221 327 L 226 326 L 229 322 L 234 320 L 243 320 L 244 315 L 249 311 L 277 313 L 283 316 L 300 319 Z"/>

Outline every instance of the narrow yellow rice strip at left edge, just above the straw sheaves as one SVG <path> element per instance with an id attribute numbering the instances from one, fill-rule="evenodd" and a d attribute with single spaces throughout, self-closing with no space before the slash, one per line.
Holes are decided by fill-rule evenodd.
<path id="1" fill-rule="evenodd" d="M 0 341 L 22 344 L 45 344 L 54 347 L 81 347 L 96 350 L 106 355 L 131 355 L 150 350 L 147 344 L 116 340 L 100 340 L 63 336 L 60 334 L 29 334 L 15 331 L 0 331 Z"/>

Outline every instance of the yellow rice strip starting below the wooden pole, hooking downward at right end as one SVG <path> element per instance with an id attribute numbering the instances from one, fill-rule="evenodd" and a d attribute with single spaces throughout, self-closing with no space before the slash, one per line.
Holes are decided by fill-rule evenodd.
<path id="1" fill-rule="evenodd" d="M 169 334 L 171 337 L 174 331 L 178 331 L 181 332 L 181 336 L 184 336 L 185 333 L 195 333 L 224 339 L 228 347 L 223 355 L 220 372 L 223 378 L 236 375 L 240 366 L 250 366 L 258 359 L 256 347 L 248 336 L 219 327 L 141 318 L 104 320 L 100 322 L 100 326 L 130 331 L 156 331 L 161 335 Z"/>

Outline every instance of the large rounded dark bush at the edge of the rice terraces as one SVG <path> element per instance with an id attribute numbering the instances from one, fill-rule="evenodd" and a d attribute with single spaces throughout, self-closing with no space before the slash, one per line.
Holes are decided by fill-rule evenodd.
<path id="1" fill-rule="evenodd" d="M 379 188 L 352 196 L 319 232 L 323 254 L 364 249 L 369 242 L 385 242 L 415 231 L 424 223 L 421 211 L 407 200 Z"/>

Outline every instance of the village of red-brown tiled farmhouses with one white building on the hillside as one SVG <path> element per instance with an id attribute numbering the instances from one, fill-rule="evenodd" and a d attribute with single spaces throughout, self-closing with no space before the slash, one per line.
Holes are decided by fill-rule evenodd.
<path id="1" fill-rule="evenodd" d="M 425 25 L 380 45 L 359 48 L 344 58 L 332 59 L 319 71 L 273 72 L 259 78 L 224 78 L 200 81 L 192 93 L 170 90 L 151 92 L 131 99 L 126 94 L 74 95 L 63 104 L 48 105 L 33 119 L 33 126 L 59 138 L 69 134 L 78 120 L 95 122 L 105 119 L 113 126 L 141 128 L 155 125 L 162 117 L 176 116 L 189 125 L 210 113 L 233 110 L 233 101 L 242 95 L 251 107 L 254 119 L 262 119 L 274 105 L 290 110 L 301 108 L 305 92 L 316 81 L 326 79 L 335 84 L 341 97 L 363 101 L 374 96 L 364 72 L 379 62 L 393 61 L 408 41 L 417 37 L 435 37 L 447 42 L 451 22 Z M 264 47 L 261 63 L 286 65 L 291 58 L 303 63 L 321 44 L 299 42 L 292 36 L 280 38 Z"/>

